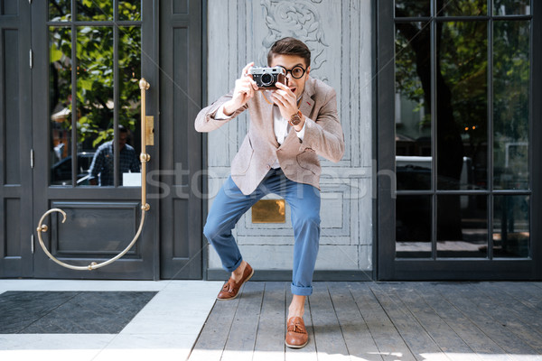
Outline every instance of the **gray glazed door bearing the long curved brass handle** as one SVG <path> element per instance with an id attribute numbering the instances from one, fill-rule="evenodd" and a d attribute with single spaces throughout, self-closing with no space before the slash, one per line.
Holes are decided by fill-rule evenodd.
<path id="1" fill-rule="evenodd" d="M 130 173 L 137 173 L 132 161 L 138 162 L 141 152 L 142 77 L 151 85 L 146 115 L 157 116 L 157 2 L 55 0 L 31 6 L 33 225 L 47 209 L 63 209 L 65 223 L 58 213 L 45 219 L 45 245 L 65 263 L 99 263 L 123 250 L 139 226 L 141 187 L 137 174 Z M 156 171 L 156 146 L 146 151 L 151 155 L 147 171 Z M 72 271 L 51 262 L 36 240 L 33 276 L 158 278 L 158 199 L 148 203 L 142 235 L 117 262 Z"/>

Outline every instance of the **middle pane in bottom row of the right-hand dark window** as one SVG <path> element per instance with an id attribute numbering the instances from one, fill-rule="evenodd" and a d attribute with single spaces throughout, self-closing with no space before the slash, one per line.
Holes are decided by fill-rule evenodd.
<path id="1" fill-rule="evenodd" d="M 486 257 L 487 196 L 439 195 L 436 200 L 437 257 Z"/>

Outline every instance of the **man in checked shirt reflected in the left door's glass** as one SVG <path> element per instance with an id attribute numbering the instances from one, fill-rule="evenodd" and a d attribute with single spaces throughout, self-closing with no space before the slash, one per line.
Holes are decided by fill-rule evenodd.
<path id="1" fill-rule="evenodd" d="M 126 144 L 128 140 L 128 130 L 124 125 L 118 125 L 118 149 L 119 149 L 119 167 L 120 174 L 127 173 L 129 171 L 139 172 L 139 160 L 135 155 L 135 149 L 130 145 Z M 113 159 L 114 159 L 114 148 L 113 142 L 109 141 L 101 144 L 94 154 L 92 163 L 90 164 L 89 169 L 89 184 L 100 186 L 112 186 L 114 185 L 113 181 Z M 99 176 L 99 178 L 98 178 Z M 98 180 L 99 179 L 99 182 Z M 120 181 L 122 185 L 122 180 Z"/>

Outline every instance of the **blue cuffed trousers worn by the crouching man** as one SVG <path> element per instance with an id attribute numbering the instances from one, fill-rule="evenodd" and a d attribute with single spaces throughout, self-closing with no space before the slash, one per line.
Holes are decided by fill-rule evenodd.
<path id="1" fill-rule="evenodd" d="M 210 208 L 203 233 L 219 254 L 224 269 L 233 272 L 243 258 L 231 230 L 257 200 L 269 193 L 284 198 L 292 210 L 295 243 L 291 290 L 293 294 L 309 296 L 313 293 L 314 264 L 320 241 L 320 190 L 288 180 L 279 168 L 269 171 L 257 190 L 247 196 L 230 176 Z"/>

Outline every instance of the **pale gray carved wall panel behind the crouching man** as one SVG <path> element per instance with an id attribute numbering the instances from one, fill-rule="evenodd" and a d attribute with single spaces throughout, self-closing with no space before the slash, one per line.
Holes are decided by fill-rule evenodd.
<path id="1" fill-rule="evenodd" d="M 233 88 L 248 62 L 266 65 L 268 48 L 284 36 L 309 46 L 311 76 L 337 90 L 346 152 L 339 163 L 321 159 L 317 270 L 372 269 L 370 31 L 370 0 L 209 0 L 208 104 Z M 209 134 L 210 204 L 229 175 L 229 163 L 247 126 L 248 118 L 242 115 Z M 234 235 L 244 258 L 256 269 L 291 269 L 294 236 L 289 208 L 285 224 L 253 224 L 248 211 Z M 211 247 L 209 268 L 221 268 Z"/>

